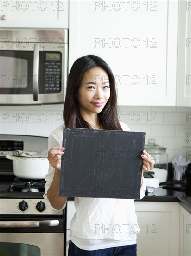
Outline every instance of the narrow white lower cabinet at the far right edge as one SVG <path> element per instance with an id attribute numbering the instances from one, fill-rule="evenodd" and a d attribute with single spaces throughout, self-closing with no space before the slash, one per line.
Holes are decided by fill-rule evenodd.
<path id="1" fill-rule="evenodd" d="M 191 214 L 180 206 L 179 256 L 191 256 Z"/>

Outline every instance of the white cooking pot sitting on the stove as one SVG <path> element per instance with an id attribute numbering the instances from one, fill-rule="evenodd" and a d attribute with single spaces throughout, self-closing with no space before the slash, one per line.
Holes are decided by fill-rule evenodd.
<path id="1" fill-rule="evenodd" d="M 48 173 L 49 161 L 47 158 L 30 158 L 6 156 L 13 160 L 13 173 L 22 179 L 45 179 Z"/>

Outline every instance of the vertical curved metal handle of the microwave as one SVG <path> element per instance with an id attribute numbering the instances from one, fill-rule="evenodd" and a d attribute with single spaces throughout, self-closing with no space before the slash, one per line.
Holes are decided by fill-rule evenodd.
<path id="1" fill-rule="evenodd" d="M 39 76 L 39 45 L 34 44 L 33 58 L 33 100 L 38 101 L 38 76 Z"/>

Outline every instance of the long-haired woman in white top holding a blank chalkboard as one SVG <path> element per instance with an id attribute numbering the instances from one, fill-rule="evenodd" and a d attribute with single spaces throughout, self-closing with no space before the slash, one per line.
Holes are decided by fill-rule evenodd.
<path id="1" fill-rule="evenodd" d="M 114 75 L 100 57 L 88 55 L 76 60 L 70 70 L 64 103 L 64 125 L 49 137 L 49 172 L 45 189 L 54 209 L 63 209 L 67 197 L 59 196 L 63 128 L 129 131 L 117 116 Z M 143 171 L 154 160 L 143 151 Z M 145 195 L 142 172 L 140 199 Z M 139 233 L 132 199 L 75 197 L 76 213 L 70 223 L 69 256 L 136 256 Z"/>

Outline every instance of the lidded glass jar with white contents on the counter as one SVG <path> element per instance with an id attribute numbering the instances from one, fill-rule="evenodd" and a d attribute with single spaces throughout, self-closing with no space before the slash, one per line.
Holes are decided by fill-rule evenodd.
<path id="1" fill-rule="evenodd" d="M 166 182 L 168 171 L 168 154 L 166 153 L 166 148 L 156 144 L 155 139 L 149 139 L 148 144 L 145 145 L 145 150 L 155 161 L 152 170 L 154 171 L 155 176 L 159 178 L 160 183 Z"/>

